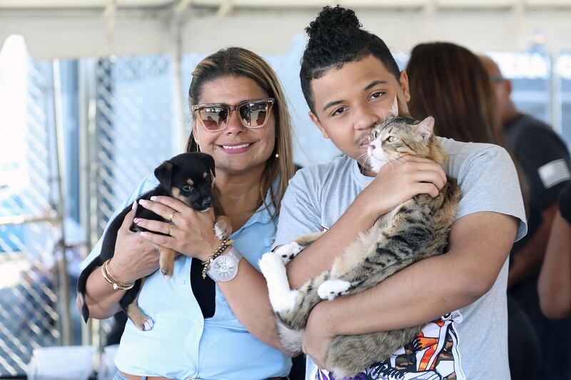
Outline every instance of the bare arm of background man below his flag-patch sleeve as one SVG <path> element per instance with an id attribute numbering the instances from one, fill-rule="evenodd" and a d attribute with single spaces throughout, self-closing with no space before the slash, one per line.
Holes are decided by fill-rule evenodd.
<path id="1" fill-rule="evenodd" d="M 557 202 L 543 210 L 540 227 L 537 227 L 530 240 L 515 255 L 512 255 L 512 266 L 507 275 L 508 287 L 531 278 L 539 272 L 545 256 L 555 212 L 557 212 Z"/>

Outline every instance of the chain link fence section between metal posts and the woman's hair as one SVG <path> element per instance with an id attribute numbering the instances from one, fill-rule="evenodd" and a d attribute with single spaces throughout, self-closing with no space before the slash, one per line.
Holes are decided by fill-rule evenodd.
<path id="1" fill-rule="evenodd" d="M 89 142 L 94 158 L 88 170 L 95 174 L 96 186 L 91 228 L 101 237 L 136 183 L 178 153 L 178 147 L 170 56 L 104 58 L 95 68 L 96 133 Z M 102 344 L 112 321 L 100 324 Z"/>

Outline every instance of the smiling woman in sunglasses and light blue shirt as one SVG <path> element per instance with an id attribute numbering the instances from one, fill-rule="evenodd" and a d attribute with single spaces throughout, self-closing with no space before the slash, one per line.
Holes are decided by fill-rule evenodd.
<path id="1" fill-rule="evenodd" d="M 172 197 L 140 202 L 171 224 L 138 220 L 148 230 L 128 230 L 134 212 L 118 232 L 107 271 L 130 284 L 151 274 L 138 304 L 153 319 L 148 331 L 129 320 L 116 355 L 116 380 L 273 379 L 287 376 L 283 353 L 258 259 L 271 249 L 281 197 L 293 175 L 290 118 L 276 74 L 243 48 L 203 59 L 188 91 L 192 132 L 188 152 L 212 155 L 218 204 L 231 220 L 231 240 L 213 232 L 214 214 L 195 212 Z M 123 207 L 156 185 L 150 175 Z M 173 278 L 163 279 L 151 243 L 181 252 Z M 98 255 L 98 247 L 91 256 Z M 89 258 L 86 262 L 89 261 Z M 208 277 L 202 278 L 203 262 Z M 87 282 L 91 316 L 118 311 L 121 290 L 101 271 Z"/>

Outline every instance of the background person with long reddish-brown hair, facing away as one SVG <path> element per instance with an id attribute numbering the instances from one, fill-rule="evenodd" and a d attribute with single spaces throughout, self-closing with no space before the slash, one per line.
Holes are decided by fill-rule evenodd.
<path id="1" fill-rule="evenodd" d="M 505 147 L 497 133 L 500 114 L 494 88 L 474 53 L 454 43 L 421 43 L 413 48 L 406 71 L 410 114 L 419 120 L 434 116 L 435 135 Z M 521 170 L 518 174 L 522 183 Z M 535 330 L 510 297 L 507 312 L 512 379 L 534 379 L 540 359 Z"/>

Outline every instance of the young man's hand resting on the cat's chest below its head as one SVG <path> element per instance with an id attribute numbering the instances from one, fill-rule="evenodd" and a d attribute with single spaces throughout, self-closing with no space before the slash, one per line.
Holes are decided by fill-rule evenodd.
<path id="1" fill-rule="evenodd" d="M 380 217 L 415 195 L 438 196 L 446 182 L 440 164 L 428 158 L 405 155 L 385 164 L 357 199 L 372 207 L 375 217 Z"/>

